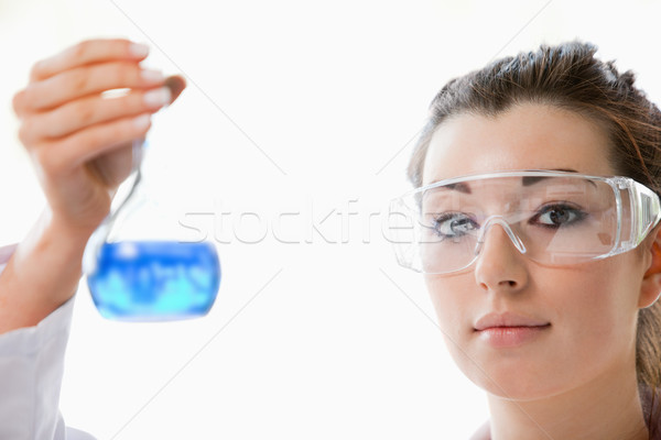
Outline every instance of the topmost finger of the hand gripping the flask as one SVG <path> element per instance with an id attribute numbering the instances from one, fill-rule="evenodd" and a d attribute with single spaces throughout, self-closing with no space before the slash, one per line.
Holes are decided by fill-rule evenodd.
<path id="1" fill-rule="evenodd" d="M 112 61 L 139 62 L 148 54 L 148 46 L 129 40 L 87 40 L 34 64 L 30 73 L 30 81 L 41 81 L 88 64 Z"/>

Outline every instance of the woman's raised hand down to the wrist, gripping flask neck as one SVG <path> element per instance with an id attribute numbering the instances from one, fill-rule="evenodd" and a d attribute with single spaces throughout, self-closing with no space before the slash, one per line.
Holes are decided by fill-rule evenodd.
<path id="1" fill-rule="evenodd" d="M 36 63 L 14 97 L 53 221 L 71 232 L 89 234 L 106 217 L 131 170 L 132 141 L 183 89 L 183 79 L 169 80 L 172 90 L 161 73 L 141 68 L 147 54 L 127 40 L 86 41 Z M 113 89 L 126 92 L 108 97 Z"/>

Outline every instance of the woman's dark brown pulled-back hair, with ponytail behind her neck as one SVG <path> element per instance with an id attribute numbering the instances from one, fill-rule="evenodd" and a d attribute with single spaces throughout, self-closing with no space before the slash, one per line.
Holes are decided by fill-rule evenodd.
<path id="1" fill-rule="evenodd" d="M 492 117 L 516 105 L 540 103 L 577 112 L 604 128 L 611 141 L 604 154 L 617 174 L 659 194 L 661 112 L 635 87 L 632 72 L 620 74 L 614 62 L 595 58 L 596 51 L 581 42 L 543 45 L 447 82 L 430 106 L 429 122 L 409 163 L 411 183 L 422 185 L 430 141 L 447 118 L 463 113 Z M 641 388 L 661 386 L 661 300 L 639 311 L 636 365 Z M 654 403 L 643 400 L 652 431 L 659 424 L 652 422 Z"/>

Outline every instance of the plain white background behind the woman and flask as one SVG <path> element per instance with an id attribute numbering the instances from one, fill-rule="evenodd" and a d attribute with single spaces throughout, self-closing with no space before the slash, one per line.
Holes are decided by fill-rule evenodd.
<path id="1" fill-rule="evenodd" d="M 485 398 L 445 353 L 380 216 L 408 189 L 433 96 L 495 56 L 592 41 L 660 102 L 661 3 L 624 4 L 0 1 L 0 243 L 20 240 L 43 204 L 11 97 L 35 61 L 96 36 L 149 43 L 147 64 L 188 78 L 155 119 L 152 163 L 169 180 L 156 187 L 189 195 L 185 209 L 230 210 L 243 241 L 266 235 L 218 244 L 221 288 L 204 319 L 107 321 L 83 282 L 67 424 L 121 440 L 467 438 Z M 240 223 L 246 210 L 262 222 Z M 282 212 L 300 212 L 278 226 L 299 243 L 274 238 Z"/>

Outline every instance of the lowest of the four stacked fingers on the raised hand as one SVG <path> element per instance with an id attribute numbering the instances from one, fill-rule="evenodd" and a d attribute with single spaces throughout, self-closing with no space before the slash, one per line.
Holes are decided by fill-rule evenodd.
<path id="1" fill-rule="evenodd" d="M 86 162 L 143 139 L 150 127 L 150 114 L 142 113 L 93 125 L 58 141 L 44 142 L 30 148 L 30 153 L 41 173 L 58 178 Z"/>

